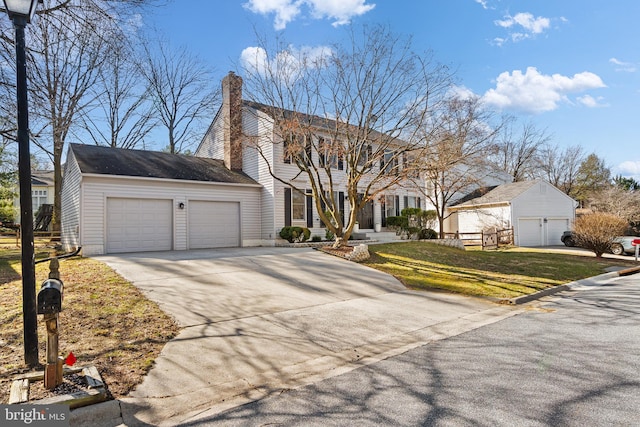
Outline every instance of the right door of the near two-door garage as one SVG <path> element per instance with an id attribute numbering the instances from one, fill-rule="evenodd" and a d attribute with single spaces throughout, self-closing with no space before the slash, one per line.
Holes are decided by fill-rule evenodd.
<path id="1" fill-rule="evenodd" d="M 240 203 L 192 200 L 189 209 L 189 249 L 240 246 Z"/>

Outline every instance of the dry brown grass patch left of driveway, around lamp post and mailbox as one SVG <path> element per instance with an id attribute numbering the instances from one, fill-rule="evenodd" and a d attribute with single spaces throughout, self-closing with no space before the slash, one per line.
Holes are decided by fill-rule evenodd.
<path id="1" fill-rule="evenodd" d="M 14 245 L 15 246 L 15 245 Z M 36 259 L 46 257 L 38 251 Z M 0 246 L 0 394 L 6 403 L 11 381 L 24 364 L 22 281 L 19 251 Z M 48 263 L 36 266 L 36 286 Z M 87 258 L 60 262 L 64 282 L 59 317 L 60 356 L 73 352 L 76 366 L 94 365 L 110 394 L 121 397 L 139 384 L 178 327 L 158 306 L 106 265 Z M 38 316 L 39 359 L 46 358 L 46 330 Z"/>

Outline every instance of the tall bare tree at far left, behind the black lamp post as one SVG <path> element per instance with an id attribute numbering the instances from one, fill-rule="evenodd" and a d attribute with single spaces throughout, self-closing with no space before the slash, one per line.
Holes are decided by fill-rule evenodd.
<path id="1" fill-rule="evenodd" d="M 31 93 L 32 141 L 47 153 L 55 178 L 53 228 L 59 229 L 62 153 L 67 137 L 83 111 L 92 104 L 90 88 L 97 81 L 112 40 L 122 37 L 126 19 L 139 6 L 154 0 L 45 0 L 28 27 L 27 46 L 29 89 Z M 6 22 L 5 22 L 6 21 Z M 12 29 L 7 20 L 0 24 L 0 57 L 10 67 L 13 60 Z M 1 86 L 15 91 L 15 72 L 3 72 Z M 13 77 L 12 77 L 13 76 Z M 0 95 L 0 99 L 3 98 Z M 15 123 L 15 107 L 8 103 L 8 122 Z M 5 111 L 7 111 L 5 110 Z M 4 129 L 8 134 L 12 128 Z M 11 139 L 15 139 L 12 135 Z"/>

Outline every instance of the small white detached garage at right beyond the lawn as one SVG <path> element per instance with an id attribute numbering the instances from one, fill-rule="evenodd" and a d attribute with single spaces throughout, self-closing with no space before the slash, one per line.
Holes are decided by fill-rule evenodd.
<path id="1" fill-rule="evenodd" d="M 570 230 L 577 202 L 542 180 L 480 189 L 450 206 L 450 224 L 460 233 L 513 227 L 518 246 L 561 245 Z"/>

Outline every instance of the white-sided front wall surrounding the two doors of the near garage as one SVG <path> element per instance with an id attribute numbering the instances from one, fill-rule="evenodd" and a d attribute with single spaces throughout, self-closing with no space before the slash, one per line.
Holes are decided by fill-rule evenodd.
<path id="1" fill-rule="evenodd" d="M 84 255 L 106 252 L 107 198 L 147 198 L 171 200 L 173 211 L 173 250 L 188 248 L 190 200 L 240 202 L 241 245 L 260 246 L 260 188 L 257 186 L 202 183 L 193 181 L 85 175 L 82 179 L 79 235 Z M 184 203 L 186 208 L 179 209 Z M 63 211 L 67 206 L 63 207 Z"/>

